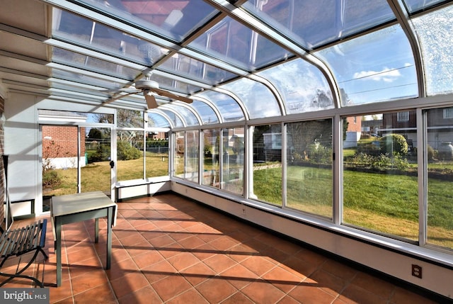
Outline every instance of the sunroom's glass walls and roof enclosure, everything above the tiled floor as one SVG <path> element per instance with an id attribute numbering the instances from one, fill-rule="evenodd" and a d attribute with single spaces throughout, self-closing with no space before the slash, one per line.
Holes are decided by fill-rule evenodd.
<path id="1" fill-rule="evenodd" d="M 14 216 L 170 191 L 453 299 L 451 1 L 0 6 Z"/>

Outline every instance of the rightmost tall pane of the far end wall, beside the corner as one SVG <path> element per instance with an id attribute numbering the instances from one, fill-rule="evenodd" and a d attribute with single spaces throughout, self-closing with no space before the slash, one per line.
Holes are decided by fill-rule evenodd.
<path id="1" fill-rule="evenodd" d="M 147 132 L 145 177 L 168 176 L 168 133 Z"/>

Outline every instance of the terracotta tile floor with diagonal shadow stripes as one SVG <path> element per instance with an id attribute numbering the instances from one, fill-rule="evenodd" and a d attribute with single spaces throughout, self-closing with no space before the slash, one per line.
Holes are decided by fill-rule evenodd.
<path id="1" fill-rule="evenodd" d="M 44 276 L 50 303 L 435 303 L 171 193 L 118 209 L 107 271 L 105 221 L 98 244 L 93 220 L 64 225 L 59 288 L 48 223 L 49 259 L 30 271 Z"/>

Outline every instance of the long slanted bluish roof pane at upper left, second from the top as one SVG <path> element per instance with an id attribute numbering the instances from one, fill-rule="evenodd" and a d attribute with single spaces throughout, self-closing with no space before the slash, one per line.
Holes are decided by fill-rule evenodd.
<path id="1" fill-rule="evenodd" d="M 54 9 L 54 13 L 60 18 L 57 18 L 58 23 L 53 24 L 52 35 L 60 40 L 84 45 L 100 52 L 108 52 L 110 55 L 127 58 L 147 66 L 168 53 L 168 50 L 145 40 L 134 38 L 67 11 Z"/>

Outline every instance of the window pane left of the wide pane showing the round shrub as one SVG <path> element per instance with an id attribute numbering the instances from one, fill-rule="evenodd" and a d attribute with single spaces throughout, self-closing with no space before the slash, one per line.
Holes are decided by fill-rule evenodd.
<path id="1" fill-rule="evenodd" d="M 286 206 L 332 218 L 332 120 L 287 124 Z"/>

